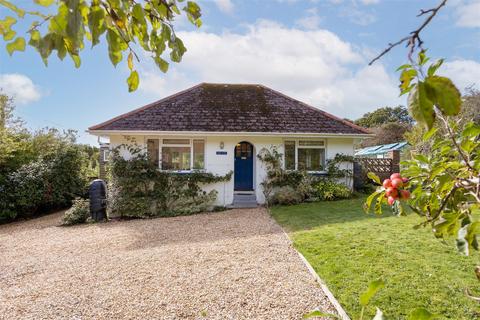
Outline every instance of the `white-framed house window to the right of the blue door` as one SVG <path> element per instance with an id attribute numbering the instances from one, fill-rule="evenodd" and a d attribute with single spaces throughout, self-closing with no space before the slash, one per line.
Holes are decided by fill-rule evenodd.
<path id="1" fill-rule="evenodd" d="M 325 170 L 324 140 L 285 141 L 286 170 Z"/>

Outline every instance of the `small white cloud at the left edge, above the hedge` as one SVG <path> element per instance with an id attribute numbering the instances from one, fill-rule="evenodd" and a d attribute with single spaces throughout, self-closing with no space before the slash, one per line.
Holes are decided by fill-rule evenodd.
<path id="1" fill-rule="evenodd" d="M 18 104 L 27 104 L 40 99 L 40 89 L 33 81 L 18 73 L 0 74 L 0 89 L 15 98 Z"/>

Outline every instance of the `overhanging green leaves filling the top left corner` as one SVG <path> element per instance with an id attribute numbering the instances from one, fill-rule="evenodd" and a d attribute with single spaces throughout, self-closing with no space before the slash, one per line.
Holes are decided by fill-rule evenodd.
<path id="1" fill-rule="evenodd" d="M 35 48 L 45 65 L 53 51 L 63 60 L 68 54 L 80 67 L 80 52 L 85 42 L 91 47 L 104 41 L 108 45 L 108 56 L 114 66 L 128 52 L 127 66 L 130 76 L 127 79 L 129 91 L 137 89 L 139 76 L 134 69 L 133 60 L 139 57 L 135 52 L 138 47 L 151 54 L 155 64 L 163 72 L 168 70 L 164 53 L 168 47 L 170 60 L 180 62 L 186 51 L 177 37 L 173 22 L 184 11 L 188 20 L 197 27 L 201 25 L 200 7 L 193 1 L 187 1 L 180 10 L 181 0 L 130 1 L 130 0 L 37 0 L 44 10 L 36 6 L 35 10 L 18 7 L 9 0 L 0 0 L 0 6 L 10 14 L 0 20 L 0 34 L 7 42 L 7 52 L 24 51 L 26 40 L 17 35 L 12 27 L 17 19 L 32 21 L 27 30 L 30 35 L 28 45 Z"/>

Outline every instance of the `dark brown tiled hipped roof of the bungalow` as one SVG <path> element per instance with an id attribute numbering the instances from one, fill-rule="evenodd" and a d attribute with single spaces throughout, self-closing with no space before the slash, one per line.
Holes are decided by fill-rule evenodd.
<path id="1" fill-rule="evenodd" d="M 368 134 L 262 85 L 201 83 L 89 130 Z"/>

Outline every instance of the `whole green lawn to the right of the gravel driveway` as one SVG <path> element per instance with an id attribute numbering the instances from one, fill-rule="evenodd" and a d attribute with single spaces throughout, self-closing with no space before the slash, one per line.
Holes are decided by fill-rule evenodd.
<path id="1" fill-rule="evenodd" d="M 375 296 L 375 307 L 402 319 L 426 307 L 443 319 L 480 319 L 480 304 L 467 298 L 465 288 L 480 295 L 474 267 L 480 255 L 465 257 L 452 243 L 435 239 L 431 229 L 414 230 L 416 215 L 367 215 L 363 199 L 273 207 L 273 217 L 289 232 L 295 247 L 357 319 L 358 295 L 372 280 L 386 286 Z M 371 318 L 370 318 L 371 319 Z"/>

